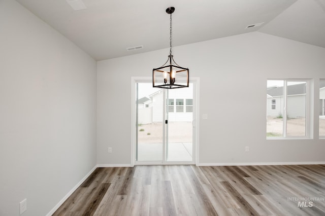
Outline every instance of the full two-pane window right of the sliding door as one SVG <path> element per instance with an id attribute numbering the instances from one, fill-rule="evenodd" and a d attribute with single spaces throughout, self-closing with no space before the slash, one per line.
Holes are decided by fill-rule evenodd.
<path id="1" fill-rule="evenodd" d="M 267 81 L 267 138 L 309 137 L 308 83 L 294 79 Z"/>

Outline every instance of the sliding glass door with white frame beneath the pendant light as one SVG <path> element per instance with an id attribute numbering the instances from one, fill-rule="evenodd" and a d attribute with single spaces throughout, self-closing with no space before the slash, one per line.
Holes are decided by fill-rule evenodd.
<path id="1" fill-rule="evenodd" d="M 156 89 L 136 83 L 136 164 L 193 164 L 193 83 Z"/>

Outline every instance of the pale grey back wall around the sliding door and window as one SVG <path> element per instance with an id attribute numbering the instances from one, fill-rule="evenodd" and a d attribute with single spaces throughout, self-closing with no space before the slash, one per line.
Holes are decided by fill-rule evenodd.
<path id="1" fill-rule="evenodd" d="M 252 32 L 175 47 L 173 55 L 200 77 L 200 116 L 208 114 L 200 121 L 200 164 L 325 161 L 317 115 L 313 140 L 266 140 L 267 79 L 313 78 L 317 89 L 325 49 Z M 98 163 L 131 162 L 131 77 L 150 77 L 167 56 L 165 49 L 98 62 Z"/>

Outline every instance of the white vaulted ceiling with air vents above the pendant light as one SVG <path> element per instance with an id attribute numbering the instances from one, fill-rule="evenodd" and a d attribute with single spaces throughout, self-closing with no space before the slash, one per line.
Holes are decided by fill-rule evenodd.
<path id="1" fill-rule="evenodd" d="M 325 48 L 325 0 L 82 0 L 79 11 L 66 0 L 16 1 L 95 60 L 168 48 L 171 6 L 173 46 L 261 31 Z"/>

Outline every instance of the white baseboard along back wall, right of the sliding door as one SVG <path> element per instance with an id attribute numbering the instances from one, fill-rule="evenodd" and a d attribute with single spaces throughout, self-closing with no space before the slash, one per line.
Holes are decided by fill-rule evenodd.
<path id="1" fill-rule="evenodd" d="M 271 166 L 271 165 L 312 165 L 325 164 L 325 161 L 313 162 L 253 162 L 253 163 L 199 163 L 198 166 Z"/>

